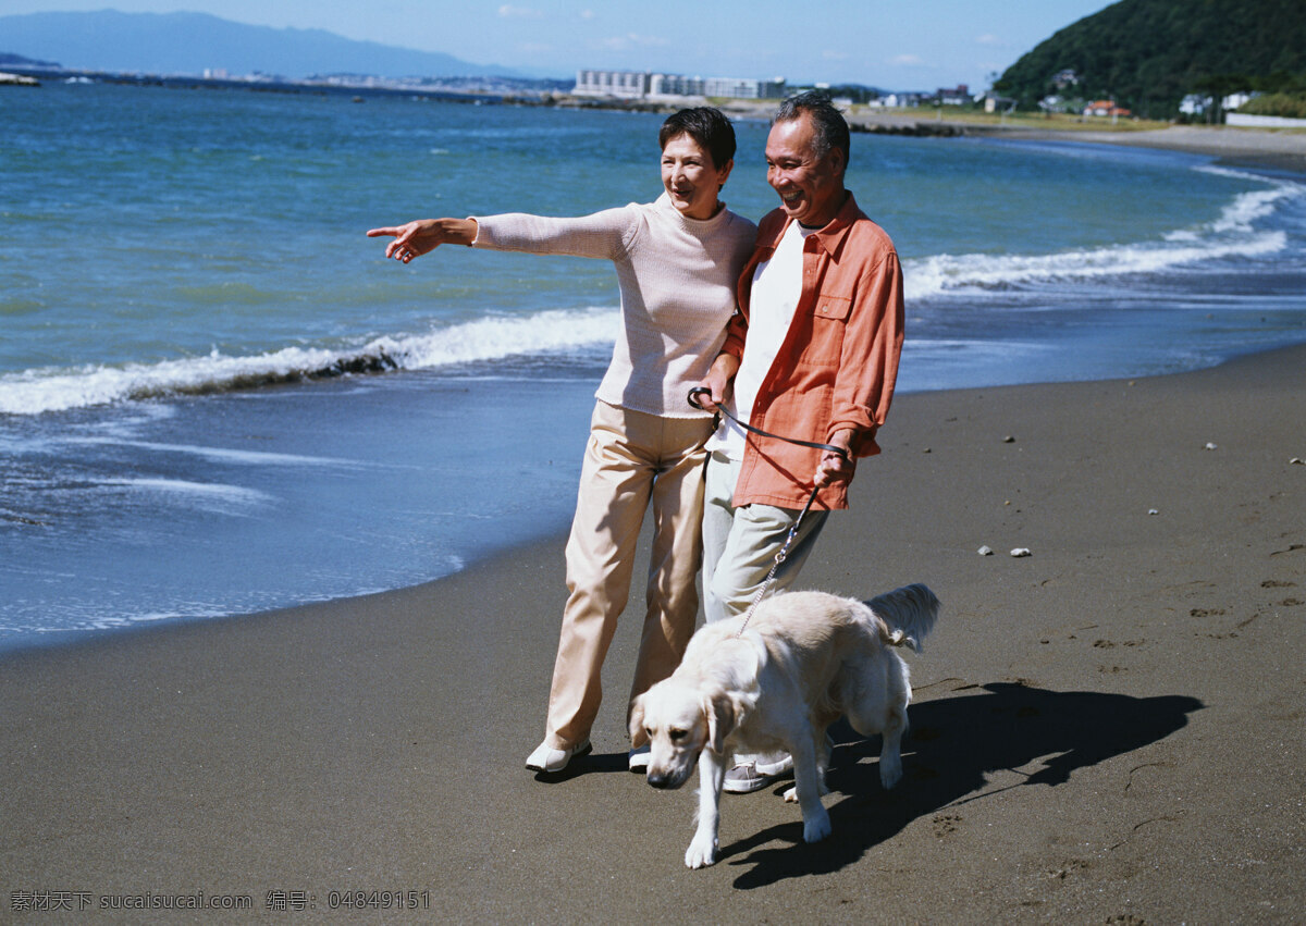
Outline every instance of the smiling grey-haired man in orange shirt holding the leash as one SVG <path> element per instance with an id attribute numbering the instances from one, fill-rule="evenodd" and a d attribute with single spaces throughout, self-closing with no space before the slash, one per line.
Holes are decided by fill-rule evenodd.
<path id="1" fill-rule="evenodd" d="M 703 381 L 729 418 L 708 443 L 703 516 L 708 620 L 744 613 L 812 492 L 772 590 L 793 584 L 831 509 L 848 507 L 857 457 L 879 453 L 902 349 L 902 272 L 893 243 L 844 188 L 848 123 L 820 94 L 785 101 L 767 137 L 780 208 L 761 219 L 739 278 L 739 308 Z M 725 789 L 764 788 L 785 755 L 739 756 Z"/>

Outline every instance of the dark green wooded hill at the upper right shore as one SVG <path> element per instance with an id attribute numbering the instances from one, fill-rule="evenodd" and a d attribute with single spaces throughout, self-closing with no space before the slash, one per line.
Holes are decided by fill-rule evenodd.
<path id="1" fill-rule="evenodd" d="M 1306 0 L 1122 0 L 1021 56 L 994 90 L 1028 110 L 1060 94 L 1166 118 L 1190 93 L 1276 90 L 1303 76 Z"/>

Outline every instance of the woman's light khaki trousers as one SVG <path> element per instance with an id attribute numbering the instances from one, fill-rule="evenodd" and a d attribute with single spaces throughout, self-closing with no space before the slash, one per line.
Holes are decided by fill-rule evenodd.
<path id="1" fill-rule="evenodd" d="M 635 543 L 653 508 L 646 610 L 631 697 L 680 663 L 699 613 L 703 445 L 710 418 L 663 418 L 598 402 L 567 541 L 567 606 L 549 695 L 545 742 L 572 748 L 589 735 L 601 669 L 626 609 Z"/>

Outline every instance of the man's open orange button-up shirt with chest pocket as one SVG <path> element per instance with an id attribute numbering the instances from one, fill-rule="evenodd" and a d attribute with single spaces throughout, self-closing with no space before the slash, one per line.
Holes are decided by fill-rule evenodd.
<path id="1" fill-rule="evenodd" d="M 739 277 L 739 311 L 722 353 L 742 358 L 754 272 L 769 260 L 789 219 L 780 209 L 757 226 L 757 244 Z M 803 242 L 803 290 L 784 345 L 752 406 L 750 424 L 798 440 L 829 443 L 852 428 L 852 449 L 879 453 L 875 431 L 888 415 L 902 353 L 902 269 L 893 242 L 857 208 Z M 821 452 L 747 435 L 734 504 L 802 508 Z M 814 508 L 846 508 L 848 483 L 823 488 Z"/>

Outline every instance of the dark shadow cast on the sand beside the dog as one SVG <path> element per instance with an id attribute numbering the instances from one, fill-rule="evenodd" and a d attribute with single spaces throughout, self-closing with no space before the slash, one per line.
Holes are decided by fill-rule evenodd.
<path id="1" fill-rule="evenodd" d="M 794 820 L 722 845 L 721 862 L 746 867 L 735 887 L 748 889 L 837 871 L 912 820 L 968 795 L 976 799 L 990 772 L 1024 774 L 1016 769 L 1043 759 L 1041 768 L 1015 786 L 1055 788 L 1076 769 L 1164 739 L 1204 707 L 1181 695 L 1130 697 L 1019 683 L 957 691 L 912 704 L 912 730 L 902 743 L 904 777 L 892 791 L 880 786 L 876 763 L 861 761 L 879 756 L 880 738 L 862 739 L 845 721 L 832 726 L 836 748 L 825 781 L 832 794 L 845 795 L 837 803 L 827 799 L 833 833 L 819 844 L 803 845 L 802 823 Z M 772 790 L 780 794 L 782 789 Z M 784 845 L 769 845 L 776 841 Z"/>

